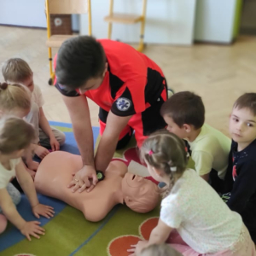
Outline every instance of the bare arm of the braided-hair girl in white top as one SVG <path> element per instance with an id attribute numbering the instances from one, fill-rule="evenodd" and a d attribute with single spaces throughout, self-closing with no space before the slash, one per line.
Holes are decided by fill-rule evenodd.
<path id="1" fill-rule="evenodd" d="M 172 230 L 171 227 L 159 219 L 157 226 L 151 231 L 149 241 L 139 241 L 137 245 L 131 245 L 132 248 L 127 250 L 127 252 L 132 253 L 131 255 L 139 255 L 145 247 L 152 244 L 165 243 Z"/>

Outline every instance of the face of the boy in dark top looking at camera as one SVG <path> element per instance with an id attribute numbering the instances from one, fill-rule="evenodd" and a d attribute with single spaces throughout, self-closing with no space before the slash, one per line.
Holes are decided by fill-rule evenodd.
<path id="1" fill-rule="evenodd" d="M 256 139 L 256 116 L 248 108 L 233 108 L 230 135 L 236 143 L 248 145 Z"/>

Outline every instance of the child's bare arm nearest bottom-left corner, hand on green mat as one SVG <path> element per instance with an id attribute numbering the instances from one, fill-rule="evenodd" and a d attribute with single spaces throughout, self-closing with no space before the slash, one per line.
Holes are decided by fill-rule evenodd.
<path id="1" fill-rule="evenodd" d="M 29 241 L 31 241 L 30 236 L 40 238 L 38 234 L 44 235 L 45 230 L 39 226 L 40 223 L 38 221 L 26 222 L 26 220 L 20 216 L 7 189 L 0 189 L 0 206 L 6 218 L 8 218 Z"/>

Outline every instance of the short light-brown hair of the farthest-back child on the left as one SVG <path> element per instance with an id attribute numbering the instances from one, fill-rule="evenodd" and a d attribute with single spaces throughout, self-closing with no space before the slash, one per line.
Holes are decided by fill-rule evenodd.
<path id="1" fill-rule="evenodd" d="M 3 78 L 6 82 L 22 83 L 32 76 L 32 70 L 26 61 L 13 58 L 5 61 L 2 67 Z"/>

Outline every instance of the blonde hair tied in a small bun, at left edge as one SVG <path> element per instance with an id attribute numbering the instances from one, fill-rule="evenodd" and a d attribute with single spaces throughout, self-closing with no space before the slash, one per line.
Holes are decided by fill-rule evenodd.
<path id="1" fill-rule="evenodd" d="M 0 110 L 30 109 L 31 93 L 21 84 L 0 83 Z"/>

